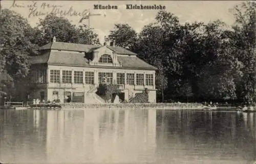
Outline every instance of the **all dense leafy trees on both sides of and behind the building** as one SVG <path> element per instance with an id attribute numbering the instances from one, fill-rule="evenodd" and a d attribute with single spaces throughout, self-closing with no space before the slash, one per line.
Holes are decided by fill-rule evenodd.
<path id="1" fill-rule="evenodd" d="M 108 40 L 158 68 L 160 101 L 252 103 L 256 102 L 256 5 L 245 2 L 233 11 L 236 22 L 231 28 L 220 20 L 181 24 L 174 14 L 159 11 L 156 21 L 139 33 L 127 24 L 115 25 Z M 28 55 L 36 54 L 36 48 L 53 36 L 57 41 L 99 44 L 92 29 L 72 25 L 63 17 L 48 15 L 32 28 L 25 18 L 4 9 L 0 22 L 0 71 L 19 85 L 29 72 Z"/>

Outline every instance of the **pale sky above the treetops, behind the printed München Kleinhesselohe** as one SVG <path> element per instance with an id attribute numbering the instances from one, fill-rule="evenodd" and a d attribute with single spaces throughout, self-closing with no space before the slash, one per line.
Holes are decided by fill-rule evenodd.
<path id="1" fill-rule="evenodd" d="M 159 10 L 136 10 L 126 9 L 126 5 L 156 5 L 165 6 L 167 12 L 179 17 L 182 24 L 185 22 L 203 21 L 206 24 L 210 21 L 220 19 L 227 25 L 234 22 L 233 14 L 230 11 L 234 6 L 244 1 L 1 1 L 2 8 L 11 9 L 27 18 L 32 27 L 35 27 L 39 18 L 44 18 L 47 12 L 72 11 L 81 13 L 76 16 L 66 15 L 72 24 L 79 25 L 82 14 L 90 10 L 91 14 L 101 14 L 90 17 L 90 27 L 99 35 L 103 43 L 104 36 L 107 36 L 114 29 L 115 24 L 129 24 L 137 32 L 155 21 Z M 118 9 L 94 9 L 94 5 L 117 6 Z M 37 12 L 37 14 L 36 14 Z M 38 14 L 40 13 L 40 14 Z M 60 14 L 57 14 L 60 16 Z M 88 25 L 88 19 L 82 24 Z"/>

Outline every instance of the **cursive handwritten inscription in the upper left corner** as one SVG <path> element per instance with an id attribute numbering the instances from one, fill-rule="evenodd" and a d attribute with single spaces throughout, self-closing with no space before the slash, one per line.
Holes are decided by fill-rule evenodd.
<path id="1" fill-rule="evenodd" d="M 50 3 L 38 3 L 36 1 L 30 1 L 28 5 L 24 5 L 22 2 L 13 1 L 10 8 L 27 8 L 29 11 L 28 17 L 46 16 L 48 14 L 54 14 L 55 16 L 85 16 L 88 15 L 88 10 L 85 9 L 82 12 L 76 11 L 72 6 L 67 9 L 62 9 L 61 5 L 53 5 Z"/>

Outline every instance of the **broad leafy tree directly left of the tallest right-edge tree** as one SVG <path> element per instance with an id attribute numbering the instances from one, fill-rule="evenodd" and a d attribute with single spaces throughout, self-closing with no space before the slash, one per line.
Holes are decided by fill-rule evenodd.
<path id="1" fill-rule="evenodd" d="M 234 46 L 226 35 L 224 23 L 217 20 L 205 26 L 201 77 L 201 96 L 209 99 L 236 99 L 236 79 L 241 76 L 241 63 L 234 56 Z"/>

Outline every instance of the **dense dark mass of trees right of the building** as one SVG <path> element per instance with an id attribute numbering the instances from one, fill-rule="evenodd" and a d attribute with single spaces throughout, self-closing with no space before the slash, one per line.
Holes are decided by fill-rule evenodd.
<path id="1" fill-rule="evenodd" d="M 158 67 L 158 98 L 179 101 L 234 100 L 252 103 L 256 98 L 256 5 L 234 7 L 236 22 L 227 29 L 215 20 L 180 24 L 166 11 L 156 22 L 136 33 L 129 25 L 115 25 L 109 40 L 129 47 Z"/>

